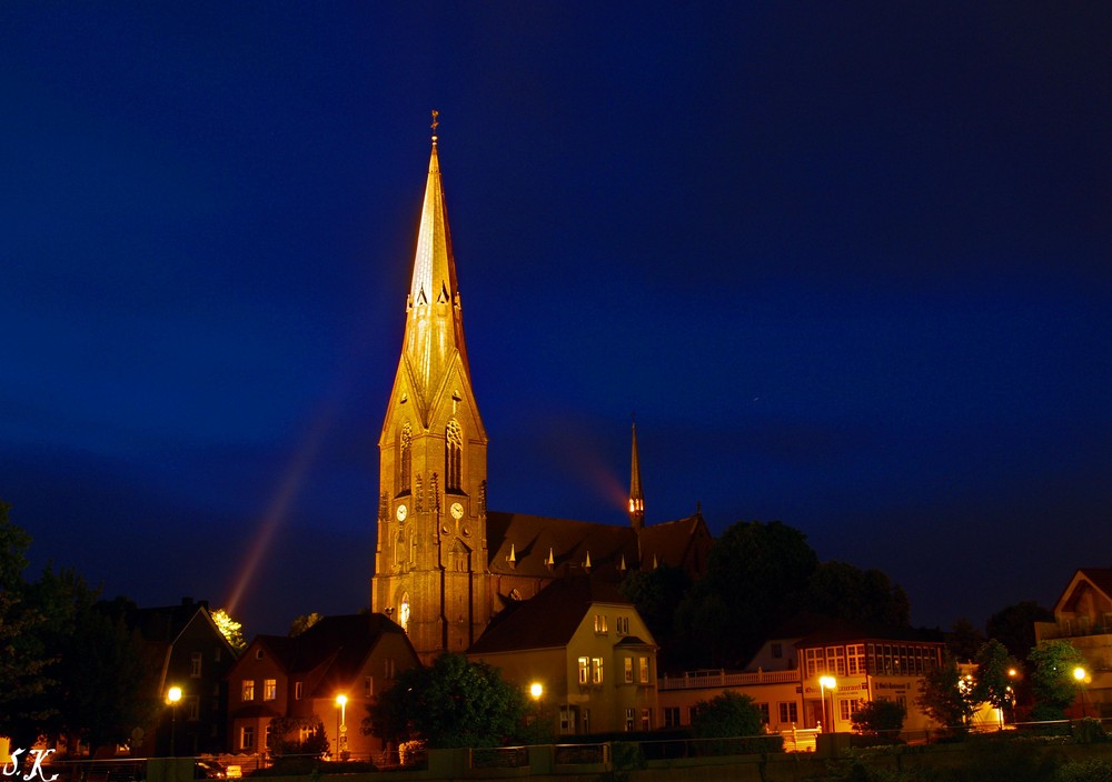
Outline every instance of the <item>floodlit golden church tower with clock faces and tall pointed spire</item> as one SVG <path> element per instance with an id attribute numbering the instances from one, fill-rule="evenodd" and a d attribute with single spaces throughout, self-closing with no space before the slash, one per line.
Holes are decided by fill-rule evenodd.
<path id="1" fill-rule="evenodd" d="M 490 620 L 487 437 L 471 389 L 437 112 L 401 358 L 379 450 L 371 610 L 400 624 L 424 662 L 461 652 Z"/>

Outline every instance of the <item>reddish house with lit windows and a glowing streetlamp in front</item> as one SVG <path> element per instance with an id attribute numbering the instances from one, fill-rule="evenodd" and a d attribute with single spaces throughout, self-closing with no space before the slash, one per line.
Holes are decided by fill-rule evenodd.
<path id="1" fill-rule="evenodd" d="M 228 749 L 269 754 L 322 729 L 329 751 L 367 758 L 386 749 L 363 733 L 368 706 L 419 664 L 405 632 L 383 614 L 326 616 L 300 635 L 258 635 L 228 673 Z"/>

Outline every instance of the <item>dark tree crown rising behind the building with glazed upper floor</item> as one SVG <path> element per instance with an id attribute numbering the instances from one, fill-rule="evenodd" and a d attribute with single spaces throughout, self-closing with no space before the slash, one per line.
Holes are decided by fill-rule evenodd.
<path id="1" fill-rule="evenodd" d="M 818 564 L 800 608 L 856 624 L 902 628 L 911 622 L 911 603 L 900 584 L 881 570 L 862 570 L 845 562 Z"/>

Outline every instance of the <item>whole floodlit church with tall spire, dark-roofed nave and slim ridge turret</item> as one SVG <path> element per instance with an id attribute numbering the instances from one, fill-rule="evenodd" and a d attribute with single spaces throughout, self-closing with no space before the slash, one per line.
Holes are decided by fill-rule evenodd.
<path id="1" fill-rule="evenodd" d="M 559 580 L 617 583 L 629 570 L 665 564 L 698 575 L 713 540 L 698 512 L 646 525 L 636 428 L 628 527 L 487 509 L 488 438 L 467 361 L 436 127 L 434 112 L 405 337 L 378 443 L 371 580 L 371 610 L 397 622 L 425 663 L 467 651 L 504 609 Z"/>

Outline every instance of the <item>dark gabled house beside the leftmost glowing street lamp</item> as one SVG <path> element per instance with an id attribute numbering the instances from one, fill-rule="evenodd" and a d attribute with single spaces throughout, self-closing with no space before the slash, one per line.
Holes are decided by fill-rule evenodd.
<path id="1" fill-rule="evenodd" d="M 165 755 L 172 743 L 178 754 L 221 752 L 227 744 L 225 676 L 236 652 L 212 621 L 208 602 L 182 598 L 178 605 L 137 609 L 127 621 L 146 644 L 158 700 L 167 703 L 170 688 L 181 689 L 181 700 L 159 713 L 136 751 Z"/>

